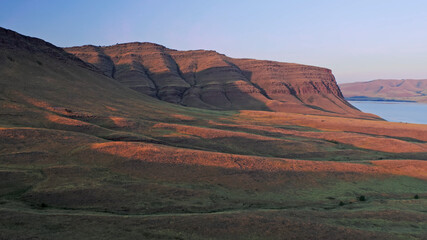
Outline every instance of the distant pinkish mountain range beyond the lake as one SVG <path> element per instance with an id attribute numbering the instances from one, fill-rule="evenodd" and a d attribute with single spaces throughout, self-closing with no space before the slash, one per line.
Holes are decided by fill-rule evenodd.
<path id="1" fill-rule="evenodd" d="M 379 79 L 339 85 L 347 100 L 427 102 L 427 79 Z"/>

